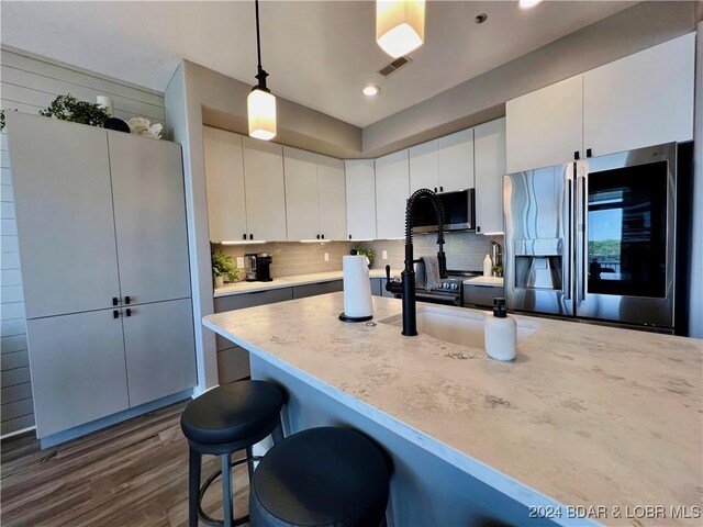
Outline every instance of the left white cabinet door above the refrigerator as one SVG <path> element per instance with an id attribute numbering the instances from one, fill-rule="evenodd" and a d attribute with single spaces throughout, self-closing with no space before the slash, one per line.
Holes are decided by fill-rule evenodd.
<path id="1" fill-rule="evenodd" d="M 507 101 L 509 173 L 568 162 L 581 152 L 582 85 L 578 76 Z"/>

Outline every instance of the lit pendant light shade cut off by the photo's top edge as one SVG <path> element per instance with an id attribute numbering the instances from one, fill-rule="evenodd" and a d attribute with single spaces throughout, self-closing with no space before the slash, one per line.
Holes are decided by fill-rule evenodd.
<path id="1" fill-rule="evenodd" d="M 425 0 L 377 0 L 376 42 L 398 58 L 425 40 Z"/>

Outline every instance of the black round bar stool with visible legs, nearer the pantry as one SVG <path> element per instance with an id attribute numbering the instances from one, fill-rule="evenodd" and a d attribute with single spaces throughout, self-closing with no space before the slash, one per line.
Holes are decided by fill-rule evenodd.
<path id="1" fill-rule="evenodd" d="M 248 522 L 248 516 L 234 518 L 232 506 L 231 467 L 247 463 L 249 482 L 253 461 L 252 446 L 274 433 L 274 439 L 282 439 L 280 412 L 283 394 L 278 386 L 266 381 L 237 381 L 222 384 L 194 399 L 180 417 L 180 426 L 190 446 L 188 473 L 188 518 L 190 527 L 197 527 L 198 518 L 210 526 L 232 527 Z M 232 455 L 246 450 L 246 458 L 232 462 Z M 211 474 L 200 486 L 202 455 L 220 456 L 222 468 Z M 217 520 L 202 511 L 202 497 L 212 482 L 222 474 L 222 501 L 224 519 Z"/>

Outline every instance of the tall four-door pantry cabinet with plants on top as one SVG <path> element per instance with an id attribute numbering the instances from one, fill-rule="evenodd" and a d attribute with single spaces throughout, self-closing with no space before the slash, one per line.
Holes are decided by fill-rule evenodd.
<path id="1" fill-rule="evenodd" d="M 180 146 L 11 112 L 36 430 L 196 384 Z"/>

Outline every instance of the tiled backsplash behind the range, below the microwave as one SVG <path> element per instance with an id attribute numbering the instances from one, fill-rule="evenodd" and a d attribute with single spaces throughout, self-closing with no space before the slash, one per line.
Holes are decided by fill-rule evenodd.
<path id="1" fill-rule="evenodd" d="M 487 237 L 482 234 L 447 233 L 445 234 L 444 250 L 447 256 L 447 269 L 461 271 L 481 271 L 483 258 L 491 253 L 491 240 L 503 243 L 502 236 Z M 370 247 L 376 251 L 373 269 L 382 269 L 387 265 L 392 269 L 402 269 L 405 259 L 405 242 L 403 239 L 381 239 L 365 242 L 364 247 Z M 416 234 L 413 236 L 415 258 L 421 256 L 436 256 L 437 235 Z M 388 260 L 382 259 L 383 250 L 388 251 Z"/>

